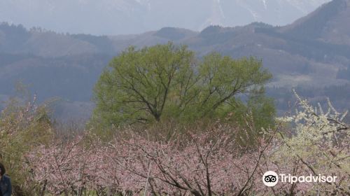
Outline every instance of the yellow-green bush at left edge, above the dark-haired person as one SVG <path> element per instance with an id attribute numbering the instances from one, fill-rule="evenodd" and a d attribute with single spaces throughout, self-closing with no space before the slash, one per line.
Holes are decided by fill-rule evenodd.
<path id="1" fill-rule="evenodd" d="M 52 137 L 45 106 L 35 102 L 35 96 L 27 104 L 10 99 L 0 114 L 0 161 L 6 165 L 14 192 L 23 195 L 31 195 L 35 189 L 25 155 Z"/>

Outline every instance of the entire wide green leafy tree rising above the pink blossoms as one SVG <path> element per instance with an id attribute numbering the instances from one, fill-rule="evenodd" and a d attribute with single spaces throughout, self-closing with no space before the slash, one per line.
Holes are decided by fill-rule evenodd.
<path id="1" fill-rule="evenodd" d="M 212 53 L 197 59 L 186 46 L 172 43 L 130 47 L 113 58 L 94 87 L 92 122 L 130 125 L 219 118 L 241 105 L 239 94 L 263 94 L 271 77 L 253 57 Z"/>

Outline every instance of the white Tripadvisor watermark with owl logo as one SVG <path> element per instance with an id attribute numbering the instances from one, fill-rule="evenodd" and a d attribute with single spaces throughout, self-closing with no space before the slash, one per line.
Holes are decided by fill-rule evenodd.
<path id="1" fill-rule="evenodd" d="M 265 186 L 276 186 L 281 183 L 334 183 L 337 176 L 318 176 L 310 174 L 309 176 L 292 176 L 291 174 L 276 174 L 276 172 L 268 171 L 262 176 L 262 182 Z"/>

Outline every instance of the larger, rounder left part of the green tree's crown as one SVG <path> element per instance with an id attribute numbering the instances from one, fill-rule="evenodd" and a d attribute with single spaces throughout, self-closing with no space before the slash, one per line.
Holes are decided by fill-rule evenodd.
<path id="1" fill-rule="evenodd" d="M 94 89 L 94 119 L 105 125 L 159 121 L 168 97 L 178 95 L 176 87 L 193 83 L 194 60 L 186 47 L 171 44 L 128 48 L 111 61 Z"/>

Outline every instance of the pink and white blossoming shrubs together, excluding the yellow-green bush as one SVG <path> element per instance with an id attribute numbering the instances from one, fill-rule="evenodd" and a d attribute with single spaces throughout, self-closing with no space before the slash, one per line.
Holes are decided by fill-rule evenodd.
<path id="1" fill-rule="evenodd" d="M 297 95 L 296 95 L 297 96 Z M 265 130 L 258 147 L 241 146 L 230 125 L 170 139 L 126 130 L 32 148 L 26 154 L 37 195 L 349 195 L 349 125 L 328 101 L 315 109 L 297 96 L 295 115 Z M 249 127 L 249 126 L 247 126 Z M 159 130 L 162 132 L 162 130 Z M 337 176 L 332 183 L 262 183 L 267 171 Z"/>

